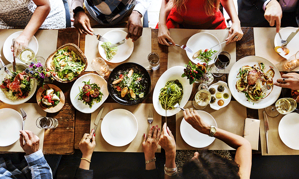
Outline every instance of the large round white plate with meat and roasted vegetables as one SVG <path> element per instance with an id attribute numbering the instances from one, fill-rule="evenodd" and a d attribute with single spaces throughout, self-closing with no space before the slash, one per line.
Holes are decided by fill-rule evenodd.
<path id="1" fill-rule="evenodd" d="M 228 87 L 231 95 L 243 106 L 263 109 L 273 104 L 279 97 L 281 87 L 273 83 L 281 75 L 278 69 L 265 58 L 247 56 L 238 60 L 228 74 Z M 270 85 L 270 90 L 261 88 Z"/>

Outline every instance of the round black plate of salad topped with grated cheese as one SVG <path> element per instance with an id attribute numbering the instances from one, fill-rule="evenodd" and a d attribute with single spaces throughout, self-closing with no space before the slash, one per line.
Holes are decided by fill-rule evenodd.
<path id="1" fill-rule="evenodd" d="M 139 64 L 129 62 L 112 70 L 107 87 L 115 101 L 124 105 L 134 105 L 147 97 L 151 85 L 147 70 Z"/>

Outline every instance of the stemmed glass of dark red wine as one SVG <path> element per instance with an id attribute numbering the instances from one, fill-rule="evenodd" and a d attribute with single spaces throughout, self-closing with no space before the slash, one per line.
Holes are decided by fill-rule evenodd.
<path id="1" fill-rule="evenodd" d="M 226 51 L 220 52 L 216 56 L 215 62 L 211 67 L 211 72 L 213 76 L 215 77 L 222 76 L 225 72 L 225 68 L 228 67 L 230 60 L 231 60 L 231 55 L 228 52 Z"/>

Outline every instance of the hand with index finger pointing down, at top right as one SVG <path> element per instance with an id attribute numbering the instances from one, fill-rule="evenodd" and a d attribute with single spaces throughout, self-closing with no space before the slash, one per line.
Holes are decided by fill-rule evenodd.
<path id="1" fill-rule="evenodd" d="M 278 33 L 282 18 L 282 10 L 278 1 L 268 2 L 264 17 L 269 22 L 270 26 L 274 26 L 276 24 L 276 32 Z"/>

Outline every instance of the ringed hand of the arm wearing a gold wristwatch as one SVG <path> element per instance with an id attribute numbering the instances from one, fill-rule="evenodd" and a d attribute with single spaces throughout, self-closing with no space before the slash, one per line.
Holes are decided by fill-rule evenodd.
<path id="1" fill-rule="evenodd" d="M 183 114 L 187 123 L 189 123 L 194 129 L 198 130 L 203 134 L 210 134 L 211 125 L 205 123 L 200 117 L 200 115 L 197 113 L 197 111 L 190 112 L 189 109 L 185 109 Z"/>

